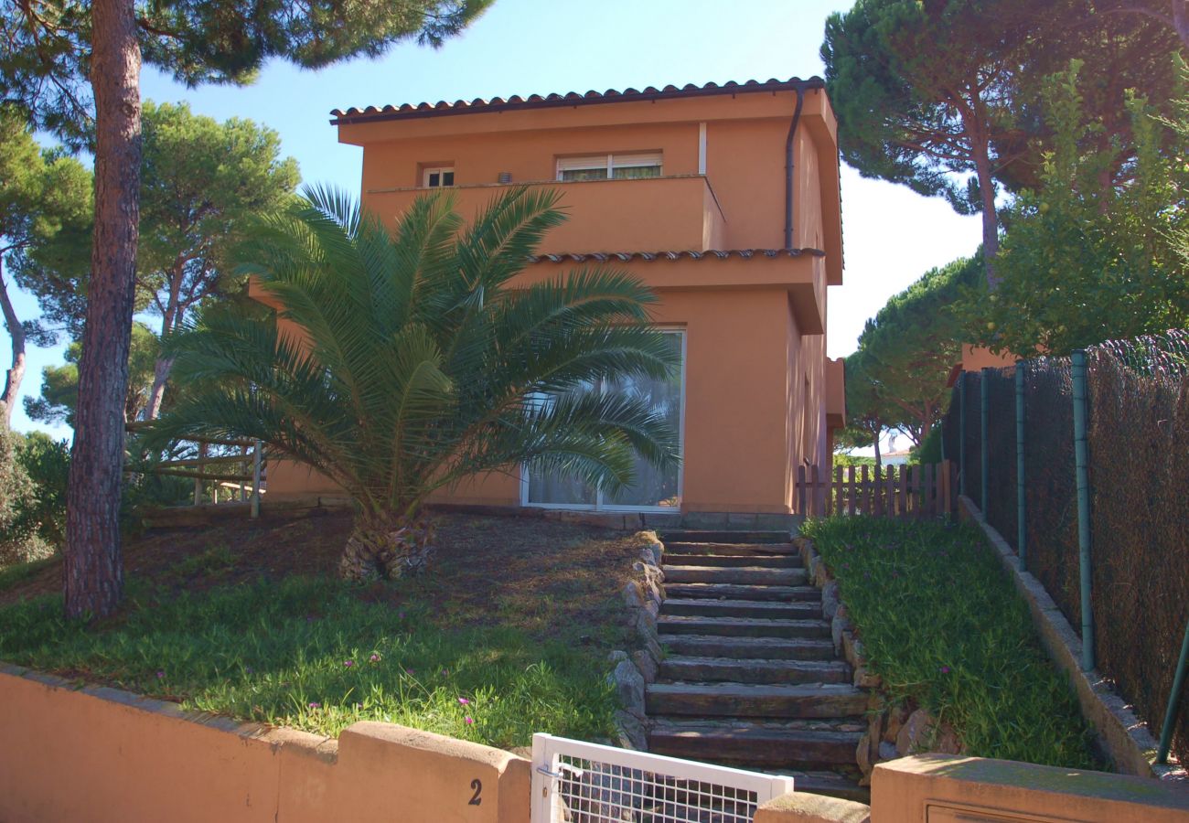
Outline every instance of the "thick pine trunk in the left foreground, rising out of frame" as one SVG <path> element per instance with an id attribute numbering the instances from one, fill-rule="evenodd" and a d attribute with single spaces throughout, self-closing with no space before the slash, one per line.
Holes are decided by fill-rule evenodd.
<path id="1" fill-rule="evenodd" d="M 92 6 L 95 234 L 67 497 L 65 609 L 103 617 L 124 589 L 124 403 L 140 218 L 140 46 L 132 0 Z"/>

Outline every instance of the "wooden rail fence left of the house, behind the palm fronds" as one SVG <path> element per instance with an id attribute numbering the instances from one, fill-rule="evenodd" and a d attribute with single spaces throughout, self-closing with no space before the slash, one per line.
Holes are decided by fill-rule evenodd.
<path id="1" fill-rule="evenodd" d="M 136 433 L 149 426 L 136 421 L 126 425 L 130 433 Z M 197 452 L 196 457 L 176 460 L 162 460 L 153 464 L 152 473 L 162 477 L 194 478 L 194 505 L 200 505 L 210 484 L 210 502 L 219 503 L 220 490 L 227 501 L 234 501 L 237 495 L 241 502 L 251 502 L 252 517 L 260 514 L 260 494 L 264 491 L 265 461 L 264 448 L 259 440 L 214 438 L 196 438 L 187 440 Z M 221 453 L 212 454 L 212 447 Z M 239 450 L 239 453 L 227 453 L 226 450 Z"/>

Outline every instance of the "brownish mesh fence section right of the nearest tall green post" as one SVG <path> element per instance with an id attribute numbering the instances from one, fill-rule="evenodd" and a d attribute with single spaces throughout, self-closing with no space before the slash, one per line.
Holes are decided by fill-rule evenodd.
<path id="1" fill-rule="evenodd" d="M 1189 620 L 1189 334 L 1088 350 L 1087 389 L 1097 665 L 1159 735 Z"/>

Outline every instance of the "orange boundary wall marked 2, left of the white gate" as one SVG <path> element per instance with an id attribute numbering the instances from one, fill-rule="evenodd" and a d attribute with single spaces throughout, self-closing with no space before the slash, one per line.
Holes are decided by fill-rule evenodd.
<path id="1" fill-rule="evenodd" d="M 509 752 L 389 723 L 335 741 L 4 664 L 0 739 L 5 823 L 529 818 L 529 761 Z"/>

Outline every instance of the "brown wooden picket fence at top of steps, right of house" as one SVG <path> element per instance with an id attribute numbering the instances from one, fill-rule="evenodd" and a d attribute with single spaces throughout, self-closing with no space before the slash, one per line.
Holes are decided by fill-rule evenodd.
<path id="1" fill-rule="evenodd" d="M 954 510 L 956 477 L 950 460 L 917 466 L 817 466 L 797 469 L 797 513 L 875 517 L 937 517 Z"/>

